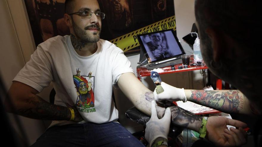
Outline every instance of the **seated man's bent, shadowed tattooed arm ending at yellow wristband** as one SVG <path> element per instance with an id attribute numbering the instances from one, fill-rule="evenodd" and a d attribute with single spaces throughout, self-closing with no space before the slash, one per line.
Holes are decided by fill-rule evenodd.
<path id="1" fill-rule="evenodd" d="M 14 81 L 8 91 L 9 98 L 5 99 L 7 112 L 33 119 L 70 120 L 71 112 L 68 109 L 69 107 L 74 109 L 75 122 L 83 120 L 76 107 L 50 104 L 37 96 L 38 93 L 34 88 Z"/>

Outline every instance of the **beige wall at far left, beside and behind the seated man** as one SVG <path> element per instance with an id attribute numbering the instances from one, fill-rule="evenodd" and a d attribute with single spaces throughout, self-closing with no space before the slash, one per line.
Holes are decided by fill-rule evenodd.
<path id="1" fill-rule="evenodd" d="M 9 89 L 15 75 L 29 60 L 35 45 L 31 39 L 30 25 L 28 26 L 22 0 L 0 0 L 0 14 L 0 73 L 6 89 Z M 40 95 L 48 101 L 49 89 L 47 88 Z M 9 114 L 9 116 L 11 124 L 20 134 L 14 115 Z M 29 138 L 30 145 L 44 132 L 46 129 L 44 124 L 49 123 L 22 116 L 18 118 Z"/>

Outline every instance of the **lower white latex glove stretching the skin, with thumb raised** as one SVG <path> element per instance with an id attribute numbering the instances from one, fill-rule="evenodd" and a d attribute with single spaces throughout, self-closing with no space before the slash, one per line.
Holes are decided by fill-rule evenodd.
<path id="1" fill-rule="evenodd" d="M 145 133 L 145 138 L 149 142 L 149 146 L 152 146 L 152 143 L 158 137 L 167 139 L 167 135 L 169 133 L 170 121 L 171 121 L 170 108 L 166 108 L 164 117 L 158 119 L 156 102 L 153 100 L 151 102 L 151 118 L 146 123 L 146 133 Z"/>

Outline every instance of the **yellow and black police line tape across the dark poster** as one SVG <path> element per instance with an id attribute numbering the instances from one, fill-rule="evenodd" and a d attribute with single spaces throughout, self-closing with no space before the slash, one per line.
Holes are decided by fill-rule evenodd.
<path id="1" fill-rule="evenodd" d="M 124 52 L 127 50 L 131 50 L 139 46 L 138 39 L 136 35 L 150 33 L 155 31 L 161 31 L 166 29 L 174 29 L 176 30 L 176 22 L 175 22 L 175 15 L 169 18 L 160 20 L 156 23 L 151 25 L 145 26 L 141 29 L 132 31 L 131 33 L 125 34 L 123 36 L 117 37 L 116 39 L 110 40 L 110 42 L 114 43 L 118 48 L 121 48 Z"/>

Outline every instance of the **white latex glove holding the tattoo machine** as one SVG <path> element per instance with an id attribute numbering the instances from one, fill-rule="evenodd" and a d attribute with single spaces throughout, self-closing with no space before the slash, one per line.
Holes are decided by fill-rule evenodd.
<path id="1" fill-rule="evenodd" d="M 161 82 L 161 86 L 164 92 L 157 94 L 156 88 L 154 90 L 154 97 L 156 101 L 169 100 L 169 101 L 183 101 L 186 102 L 185 90 L 184 88 L 176 88 L 168 85 L 165 82 Z"/>

